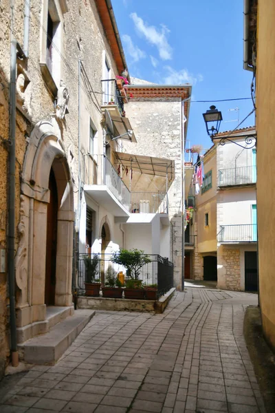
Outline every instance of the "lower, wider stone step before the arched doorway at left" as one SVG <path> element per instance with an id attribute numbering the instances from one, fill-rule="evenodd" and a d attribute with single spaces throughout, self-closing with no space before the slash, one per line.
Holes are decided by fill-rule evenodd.
<path id="1" fill-rule="evenodd" d="M 24 361 L 31 364 L 56 363 L 95 313 L 92 310 L 76 310 L 74 315 L 50 328 L 46 334 L 19 344 Z"/>

